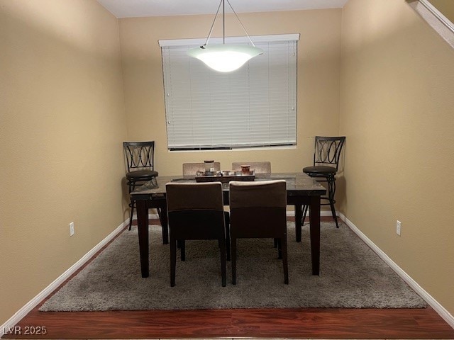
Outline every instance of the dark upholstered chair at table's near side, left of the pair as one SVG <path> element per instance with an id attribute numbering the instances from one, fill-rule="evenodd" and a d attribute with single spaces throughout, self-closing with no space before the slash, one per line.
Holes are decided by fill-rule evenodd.
<path id="1" fill-rule="evenodd" d="M 175 286 L 177 242 L 184 261 L 184 241 L 217 239 L 221 253 L 222 286 L 226 286 L 226 234 L 221 182 L 167 183 L 170 230 L 170 285 Z"/>

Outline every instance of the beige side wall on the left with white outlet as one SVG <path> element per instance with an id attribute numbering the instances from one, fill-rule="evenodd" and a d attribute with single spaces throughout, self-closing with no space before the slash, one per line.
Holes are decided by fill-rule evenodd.
<path id="1" fill-rule="evenodd" d="M 0 60 L 3 324 L 125 219 L 126 118 L 118 23 L 96 1 L 2 0 Z"/>

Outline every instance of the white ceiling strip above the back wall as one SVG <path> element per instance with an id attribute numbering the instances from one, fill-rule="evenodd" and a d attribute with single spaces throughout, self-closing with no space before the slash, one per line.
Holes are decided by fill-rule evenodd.
<path id="1" fill-rule="evenodd" d="M 117 18 L 214 14 L 219 0 L 97 0 Z M 342 8 L 348 0 L 229 0 L 236 13 Z M 226 13 L 231 9 L 226 4 Z"/>

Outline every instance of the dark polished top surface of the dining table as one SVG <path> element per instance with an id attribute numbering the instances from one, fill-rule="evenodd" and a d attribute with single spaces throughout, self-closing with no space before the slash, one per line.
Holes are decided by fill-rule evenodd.
<path id="1" fill-rule="evenodd" d="M 315 179 L 304 173 L 278 173 L 278 174 L 256 174 L 255 181 L 270 181 L 284 179 L 289 196 L 321 196 L 326 193 L 326 188 Z M 157 176 L 157 186 L 153 181 L 145 183 L 131 193 L 134 200 L 150 200 L 165 196 L 165 184 L 176 183 L 196 183 L 194 176 Z M 223 191 L 228 191 L 228 183 L 223 184 Z"/>

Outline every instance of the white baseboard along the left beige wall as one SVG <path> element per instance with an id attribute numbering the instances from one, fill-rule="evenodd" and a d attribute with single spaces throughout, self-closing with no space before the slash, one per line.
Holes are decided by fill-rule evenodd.
<path id="1" fill-rule="evenodd" d="M 121 223 L 116 229 L 111 232 L 105 239 L 103 239 L 99 244 L 96 244 L 92 250 L 90 250 L 87 254 L 82 256 L 82 259 L 79 259 L 76 263 L 74 263 L 65 273 L 62 273 L 58 278 L 56 278 L 48 287 L 44 288 L 38 295 L 33 297 L 32 300 L 26 303 L 20 310 L 18 310 L 12 317 L 10 317 L 4 324 L 0 327 L 1 329 L 12 329 L 14 325 L 16 325 L 23 317 L 25 317 L 33 308 L 35 308 L 41 301 L 43 301 L 50 293 L 56 290 L 62 283 L 65 282 L 72 274 L 74 274 L 79 268 L 84 266 L 89 259 L 92 259 L 94 254 L 102 249 L 103 246 L 108 244 L 118 233 L 123 230 L 124 227 L 129 225 L 129 219 L 125 222 Z M 2 336 L 3 334 L 0 334 Z"/>

